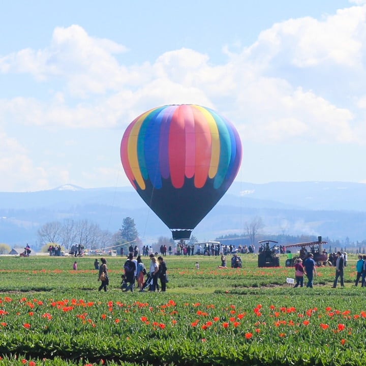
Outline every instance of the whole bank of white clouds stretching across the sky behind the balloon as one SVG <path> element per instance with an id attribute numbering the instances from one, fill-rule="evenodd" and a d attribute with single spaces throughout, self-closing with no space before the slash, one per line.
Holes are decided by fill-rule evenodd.
<path id="1" fill-rule="evenodd" d="M 250 47 L 237 52 L 224 47 L 227 61 L 221 65 L 212 64 L 209 54 L 180 48 L 130 66 L 116 58 L 128 51 L 125 46 L 92 37 L 79 25 L 57 27 L 43 49 L 0 57 L 0 73 L 29 74 L 36 80 L 32 87 L 48 89 L 48 99 L 19 89 L 18 96 L 0 100 L 0 138 L 6 141 L 0 147 L 0 174 L 14 174 L 19 182 L 27 175 L 38 189 L 71 178 L 85 186 L 82 178 L 75 181 L 68 150 L 80 146 L 84 152 L 87 143 L 73 132 L 83 131 L 86 137 L 95 129 L 122 134 L 137 115 L 163 104 L 217 109 L 233 121 L 244 143 L 363 144 L 365 16 L 366 7 L 354 6 L 321 20 L 274 24 Z M 9 137 L 15 136 L 12 126 L 19 128 L 17 139 Z M 62 131 L 61 147 L 54 152 L 53 146 L 44 147 L 41 162 L 30 151 L 46 135 L 34 133 L 29 141 L 26 132 L 21 136 L 23 128 Z M 52 154 L 59 159 L 53 168 L 46 161 Z M 105 164 L 108 158 L 93 159 L 95 166 L 83 168 L 80 177 L 114 181 L 118 169 Z"/>

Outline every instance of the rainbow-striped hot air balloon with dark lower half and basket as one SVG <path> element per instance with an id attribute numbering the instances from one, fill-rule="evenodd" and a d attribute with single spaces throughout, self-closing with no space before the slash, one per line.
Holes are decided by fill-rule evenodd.
<path id="1" fill-rule="evenodd" d="M 192 230 L 233 182 L 241 163 L 234 126 L 198 105 L 165 105 L 139 115 L 120 145 L 132 186 L 172 231 L 174 240 Z"/>

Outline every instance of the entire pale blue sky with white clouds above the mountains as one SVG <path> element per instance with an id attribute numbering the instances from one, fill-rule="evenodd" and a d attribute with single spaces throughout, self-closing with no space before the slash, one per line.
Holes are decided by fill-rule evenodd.
<path id="1" fill-rule="evenodd" d="M 366 5 L 12 1 L 0 13 L 0 191 L 127 186 L 119 144 L 149 108 L 214 108 L 237 179 L 366 182 Z"/>

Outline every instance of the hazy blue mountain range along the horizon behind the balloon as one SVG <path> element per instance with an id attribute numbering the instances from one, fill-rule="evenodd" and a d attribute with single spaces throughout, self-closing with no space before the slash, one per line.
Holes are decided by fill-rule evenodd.
<path id="1" fill-rule="evenodd" d="M 260 216 L 263 233 L 313 234 L 332 239 L 366 238 L 366 185 L 348 182 L 234 182 L 193 231 L 199 240 L 242 234 Z M 83 189 L 65 185 L 48 191 L 0 192 L 0 242 L 35 245 L 37 230 L 66 219 L 96 222 L 116 232 L 125 217 L 134 219 L 146 243 L 170 230 L 131 187 Z"/>

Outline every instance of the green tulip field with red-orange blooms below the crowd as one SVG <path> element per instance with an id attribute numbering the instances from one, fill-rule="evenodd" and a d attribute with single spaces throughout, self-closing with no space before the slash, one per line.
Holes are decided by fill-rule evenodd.
<path id="1" fill-rule="evenodd" d="M 106 259 L 110 286 L 98 292 L 95 257 L 77 270 L 70 257 L 0 257 L 0 366 L 365 364 L 356 256 L 336 289 L 333 267 L 317 268 L 314 288 L 293 288 L 293 268 L 257 268 L 255 255 L 237 269 L 167 256 L 165 293 L 121 292 L 125 259 Z"/>

